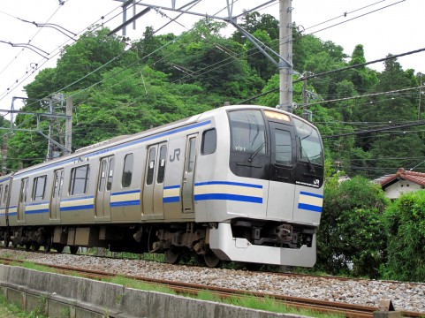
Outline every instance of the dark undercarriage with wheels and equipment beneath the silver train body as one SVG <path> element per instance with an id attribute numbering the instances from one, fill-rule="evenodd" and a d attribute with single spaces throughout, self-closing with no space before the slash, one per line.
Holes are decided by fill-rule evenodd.
<path id="1" fill-rule="evenodd" d="M 0 229 L 4 246 L 24 246 L 26 250 L 56 250 L 69 246 L 71 254 L 80 247 L 103 247 L 110 252 L 134 254 L 162 253 L 175 264 L 183 255 L 197 255 L 214 268 L 224 259 L 209 248 L 209 231 L 217 223 L 153 223 L 114 225 L 13 226 Z M 299 248 L 311 246 L 314 229 L 297 228 L 287 223 L 233 220 L 233 238 L 247 239 L 249 245 Z M 227 260 L 226 260 L 227 261 Z"/>

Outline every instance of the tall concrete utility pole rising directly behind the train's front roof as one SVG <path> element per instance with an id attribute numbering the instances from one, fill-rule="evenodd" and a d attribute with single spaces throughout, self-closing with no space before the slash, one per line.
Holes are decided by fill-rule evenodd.
<path id="1" fill-rule="evenodd" d="M 292 112 L 292 0 L 279 2 L 279 103 Z"/>

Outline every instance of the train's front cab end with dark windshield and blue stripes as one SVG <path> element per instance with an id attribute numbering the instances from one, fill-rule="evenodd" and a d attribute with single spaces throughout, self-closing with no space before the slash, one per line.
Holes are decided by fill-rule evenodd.
<path id="1" fill-rule="evenodd" d="M 209 222 L 218 221 L 209 231 L 211 250 L 222 260 L 312 267 L 323 206 L 317 129 L 255 106 L 227 108 L 217 122 L 217 153 L 228 155 L 216 156 L 216 167 L 228 169 L 195 185 L 195 194 L 212 200 Z"/>

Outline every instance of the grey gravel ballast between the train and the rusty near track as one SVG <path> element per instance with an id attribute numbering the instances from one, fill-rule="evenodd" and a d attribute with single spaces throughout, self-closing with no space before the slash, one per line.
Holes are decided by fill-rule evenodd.
<path id="1" fill-rule="evenodd" d="M 425 284 L 341 280 L 320 276 L 285 276 L 236 269 L 169 265 L 155 261 L 107 259 L 71 254 L 38 254 L 4 249 L 0 250 L 0 256 L 52 265 L 102 270 L 120 275 L 143 276 L 371 307 L 377 307 L 381 299 L 391 299 L 396 310 L 425 313 Z"/>

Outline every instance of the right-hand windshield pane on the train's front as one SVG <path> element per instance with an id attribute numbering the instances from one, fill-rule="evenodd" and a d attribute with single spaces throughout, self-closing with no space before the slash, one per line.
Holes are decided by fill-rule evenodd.
<path id="1" fill-rule="evenodd" d="M 319 134 L 314 127 L 293 118 L 297 129 L 297 136 L 300 140 L 301 161 L 320 164 L 323 166 L 323 149 Z"/>

